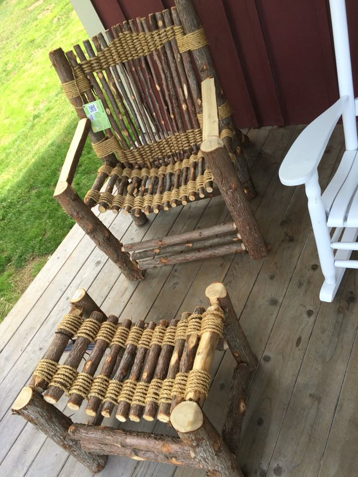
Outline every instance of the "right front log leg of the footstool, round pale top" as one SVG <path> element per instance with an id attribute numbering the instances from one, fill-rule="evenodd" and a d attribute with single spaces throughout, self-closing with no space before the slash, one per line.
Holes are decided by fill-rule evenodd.
<path id="1" fill-rule="evenodd" d="M 234 454 L 197 403 L 180 403 L 173 409 L 170 422 L 209 476 L 244 477 Z"/>

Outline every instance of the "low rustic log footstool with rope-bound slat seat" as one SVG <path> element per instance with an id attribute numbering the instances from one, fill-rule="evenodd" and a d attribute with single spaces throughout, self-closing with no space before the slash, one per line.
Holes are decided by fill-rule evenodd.
<path id="1" fill-rule="evenodd" d="M 243 477 L 234 453 L 248 379 L 257 360 L 225 286 L 212 283 L 205 295 L 210 303 L 206 311 L 198 306 L 193 314 L 182 313 L 170 323 L 144 325 L 139 320 L 133 325 L 128 319 L 118 324 L 114 315 L 107 318 L 85 290 L 78 290 L 29 386 L 13 404 L 13 412 L 92 472 L 104 468 L 107 455 L 119 455 L 203 468 L 210 476 Z M 72 338 L 75 341 L 67 354 Z M 82 371 L 77 371 L 92 341 L 90 356 Z M 201 407 L 210 387 L 215 350 L 227 347 L 237 364 L 220 436 Z M 75 411 L 87 400 L 86 424 L 73 424 L 55 407 L 63 393 L 68 396 L 67 406 Z M 102 426 L 103 418 L 115 408 L 120 422 L 128 417 L 153 421 L 157 416 L 171 424 L 179 437 Z"/>

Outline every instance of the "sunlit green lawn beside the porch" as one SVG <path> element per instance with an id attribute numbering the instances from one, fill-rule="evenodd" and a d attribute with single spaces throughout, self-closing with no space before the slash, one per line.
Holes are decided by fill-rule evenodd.
<path id="1" fill-rule="evenodd" d="M 48 52 L 86 36 L 69 0 L 0 1 L 0 320 L 73 224 L 52 195 L 77 118 Z M 82 195 L 93 160 L 86 144 Z"/>

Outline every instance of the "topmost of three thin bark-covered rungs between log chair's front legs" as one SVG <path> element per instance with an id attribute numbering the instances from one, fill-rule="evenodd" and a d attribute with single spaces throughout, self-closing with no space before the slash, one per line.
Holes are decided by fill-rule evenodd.
<path id="1" fill-rule="evenodd" d="M 233 222 L 225 224 L 214 225 L 207 229 L 197 229 L 190 232 L 179 233 L 176 235 L 168 235 L 161 239 L 143 240 L 143 242 L 133 242 L 132 244 L 125 244 L 125 250 L 146 250 L 149 248 L 165 247 L 167 245 L 185 244 L 186 242 L 194 242 L 204 238 L 213 237 L 214 235 L 222 235 L 236 230 L 236 225 Z"/>

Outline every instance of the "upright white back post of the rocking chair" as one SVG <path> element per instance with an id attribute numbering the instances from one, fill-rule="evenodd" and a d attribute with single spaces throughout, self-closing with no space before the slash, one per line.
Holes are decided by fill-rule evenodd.
<path id="1" fill-rule="evenodd" d="M 358 148 L 356 105 L 353 90 L 345 0 L 330 0 L 329 6 L 332 19 L 340 97 L 349 97 L 348 105 L 342 114 L 345 147 L 346 150 L 356 150 Z"/>

